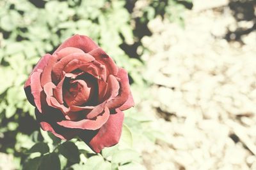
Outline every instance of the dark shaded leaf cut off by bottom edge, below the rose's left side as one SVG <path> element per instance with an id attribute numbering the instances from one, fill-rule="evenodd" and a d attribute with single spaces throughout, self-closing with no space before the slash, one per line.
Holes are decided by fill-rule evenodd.
<path id="1" fill-rule="evenodd" d="M 39 170 L 60 170 L 60 158 L 57 153 L 49 153 L 42 157 Z"/>

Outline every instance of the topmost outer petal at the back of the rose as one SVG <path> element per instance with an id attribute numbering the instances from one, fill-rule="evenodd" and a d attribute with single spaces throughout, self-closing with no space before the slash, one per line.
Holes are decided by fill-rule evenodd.
<path id="1" fill-rule="evenodd" d="M 92 39 L 88 38 L 88 36 L 80 36 L 79 34 L 76 34 L 71 38 L 68 38 L 64 43 L 62 43 L 59 48 L 54 52 L 54 54 L 66 47 L 79 48 L 84 52 L 88 53 L 93 49 L 97 48 L 98 45 Z"/>

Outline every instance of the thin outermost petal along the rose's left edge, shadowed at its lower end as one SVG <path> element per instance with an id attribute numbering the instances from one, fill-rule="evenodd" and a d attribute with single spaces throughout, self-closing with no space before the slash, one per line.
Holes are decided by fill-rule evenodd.
<path id="1" fill-rule="evenodd" d="M 44 69 L 44 67 L 47 65 L 47 62 L 50 57 L 51 57 L 51 55 L 49 53 L 44 55 L 44 57 L 41 57 L 41 59 L 37 62 L 36 66 L 34 67 L 33 71 L 30 73 L 28 80 L 25 82 L 24 90 L 25 90 L 25 93 L 26 93 L 29 103 L 33 104 L 33 106 L 35 106 L 35 102 L 34 102 L 32 94 L 31 94 L 31 87 L 30 87 L 31 75 L 34 72 L 38 71 L 38 69 Z"/>

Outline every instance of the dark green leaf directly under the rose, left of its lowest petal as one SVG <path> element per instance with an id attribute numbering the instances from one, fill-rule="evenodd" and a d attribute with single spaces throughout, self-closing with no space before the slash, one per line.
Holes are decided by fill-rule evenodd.
<path id="1" fill-rule="evenodd" d="M 77 146 L 74 143 L 67 141 L 60 145 L 58 147 L 58 150 L 61 153 L 61 155 L 66 157 L 70 162 L 80 162 L 80 153 Z"/>

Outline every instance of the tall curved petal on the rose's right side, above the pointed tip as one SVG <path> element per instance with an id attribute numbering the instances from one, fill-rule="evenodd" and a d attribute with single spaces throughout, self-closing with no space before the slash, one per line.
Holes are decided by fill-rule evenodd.
<path id="1" fill-rule="evenodd" d="M 129 78 L 125 69 L 119 68 L 117 77 L 120 78 L 119 94 L 115 97 L 115 99 L 107 103 L 109 110 L 122 106 L 127 101 L 130 94 Z"/>

